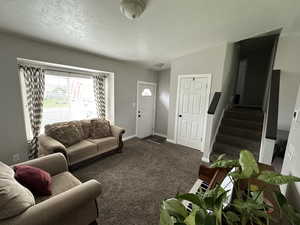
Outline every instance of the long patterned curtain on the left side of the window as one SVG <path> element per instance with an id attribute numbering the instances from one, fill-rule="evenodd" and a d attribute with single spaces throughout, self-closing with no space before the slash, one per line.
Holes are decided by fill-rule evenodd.
<path id="1" fill-rule="evenodd" d="M 27 109 L 33 138 L 30 142 L 29 158 L 38 157 L 38 136 L 40 133 L 45 91 L 45 70 L 39 67 L 20 65 L 26 87 Z"/>

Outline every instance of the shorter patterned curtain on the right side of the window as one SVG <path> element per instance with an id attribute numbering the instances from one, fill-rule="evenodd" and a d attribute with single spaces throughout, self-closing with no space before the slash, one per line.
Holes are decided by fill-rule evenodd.
<path id="1" fill-rule="evenodd" d="M 105 78 L 103 74 L 93 76 L 94 79 L 94 96 L 99 118 L 105 118 Z"/>

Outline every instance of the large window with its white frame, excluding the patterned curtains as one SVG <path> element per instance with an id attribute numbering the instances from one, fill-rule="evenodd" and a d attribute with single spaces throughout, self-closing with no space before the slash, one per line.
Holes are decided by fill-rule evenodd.
<path id="1" fill-rule="evenodd" d="M 18 63 L 45 67 L 45 91 L 40 133 L 46 124 L 97 117 L 94 96 L 94 75 L 105 73 L 106 119 L 115 123 L 114 73 L 87 68 L 59 65 L 18 58 Z M 76 72 L 78 71 L 78 72 Z M 33 138 L 27 106 L 26 85 L 23 70 L 20 70 L 20 85 L 24 109 L 27 140 Z"/>

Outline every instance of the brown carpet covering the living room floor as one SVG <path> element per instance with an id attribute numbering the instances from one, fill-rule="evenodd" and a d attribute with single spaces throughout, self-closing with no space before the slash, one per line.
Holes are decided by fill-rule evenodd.
<path id="1" fill-rule="evenodd" d="M 99 225 L 158 225 L 160 201 L 187 192 L 198 176 L 202 153 L 170 143 L 137 138 L 123 153 L 73 171 L 81 181 L 102 184 Z"/>

